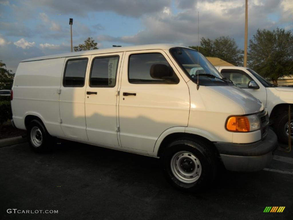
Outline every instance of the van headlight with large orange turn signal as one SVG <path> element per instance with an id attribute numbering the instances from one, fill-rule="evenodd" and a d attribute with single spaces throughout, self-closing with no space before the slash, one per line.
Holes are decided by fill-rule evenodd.
<path id="1" fill-rule="evenodd" d="M 231 116 L 227 120 L 228 131 L 248 132 L 260 129 L 260 121 L 256 115 Z"/>

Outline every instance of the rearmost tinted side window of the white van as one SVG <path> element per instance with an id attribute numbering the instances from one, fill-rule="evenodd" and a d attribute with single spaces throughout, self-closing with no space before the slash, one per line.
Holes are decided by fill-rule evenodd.
<path id="1" fill-rule="evenodd" d="M 63 79 L 64 87 L 83 87 L 88 58 L 67 60 Z"/>

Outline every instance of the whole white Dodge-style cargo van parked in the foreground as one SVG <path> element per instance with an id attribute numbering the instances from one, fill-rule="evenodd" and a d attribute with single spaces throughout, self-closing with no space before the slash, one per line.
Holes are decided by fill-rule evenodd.
<path id="1" fill-rule="evenodd" d="M 223 80 L 202 54 L 176 45 L 23 60 L 11 104 L 35 151 L 58 137 L 162 158 L 181 189 L 205 186 L 219 161 L 227 170 L 261 170 L 277 146 L 260 101 Z"/>

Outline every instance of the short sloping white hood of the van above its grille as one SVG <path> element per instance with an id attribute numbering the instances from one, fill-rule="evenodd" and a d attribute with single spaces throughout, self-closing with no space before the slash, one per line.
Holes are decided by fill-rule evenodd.
<path id="1" fill-rule="evenodd" d="M 236 86 L 209 86 L 209 88 L 239 104 L 244 114 L 253 114 L 264 109 L 258 99 Z"/>

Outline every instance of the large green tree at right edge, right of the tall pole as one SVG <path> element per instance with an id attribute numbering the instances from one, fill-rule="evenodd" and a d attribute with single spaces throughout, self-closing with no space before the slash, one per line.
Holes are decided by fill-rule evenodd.
<path id="1" fill-rule="evenodd" d="M 293 74 L 293 35 L 291 31 L 258 29 L 249 40 L 248 65 L 277 85 L 279 77 Z"/>

